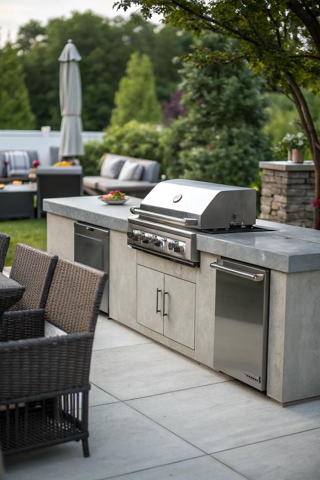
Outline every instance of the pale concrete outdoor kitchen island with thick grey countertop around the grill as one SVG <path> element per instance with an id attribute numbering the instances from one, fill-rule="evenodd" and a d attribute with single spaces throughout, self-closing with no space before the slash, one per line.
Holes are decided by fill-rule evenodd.
<path id="1" fill-rule="evenodd" d="M 257 225 L 269 231 L 199 232 L 200 266 L 193 268 L 128 248 L 130 207 L 140 203 L 134 197 L 124 205 L 93 196 L 44 200 L 47 251 L 73 260 L 77 221 L 109 229 L 109 316 L 210 368 L 219 273 L 210 265 L 225 257 L 270 269 L 266 394 L 284 405 L 319 397 L 320 232 L 261 220 Z M 166 292 L 151 290 L 155 280 L 171 288 L 171 324 L 163 316 Z M 232 295 L 229 303 L 236 311 Z"/>

